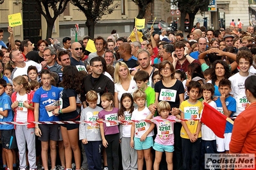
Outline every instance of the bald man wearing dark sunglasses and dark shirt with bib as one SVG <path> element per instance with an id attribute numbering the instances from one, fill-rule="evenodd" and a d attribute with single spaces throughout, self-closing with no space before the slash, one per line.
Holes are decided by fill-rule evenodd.
<path id="1" fill-rule="evenodd" d="M 71 65 L 76 66 L 76 68 L 78 69 L 78 71 L 83 71 L 85 70 L 85 72 L 87 72 L 86 68 L 85 68 L 85 63 L 83 63 L 83 61 L 81 61 L 81 56 L 83 54 L 83 48 L 81 47 L 81 43 L 79 42 L 74 42 L 71 45 Z"/>

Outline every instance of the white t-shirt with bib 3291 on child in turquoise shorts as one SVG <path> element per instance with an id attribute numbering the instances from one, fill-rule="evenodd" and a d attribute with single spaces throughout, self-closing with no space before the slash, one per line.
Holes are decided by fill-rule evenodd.
<path id="1" fill-rule="evenodd" d="M 132 112 L 132 120 L 146 120 L 147 116 L 151 112 L 149 111 L 148 107 L 145 107 L 142 111 L 138 111 L 138 109 L 135 109 Z M 150 123 L 147 123 L 145 121 L 139 121 L 135 122 L 135 137 L 141 138 L 141 136 L 148 130 L 150 127 Z M 153 136 L 154 132 L 153 130 L 149 132 L 147 137 Z"/>

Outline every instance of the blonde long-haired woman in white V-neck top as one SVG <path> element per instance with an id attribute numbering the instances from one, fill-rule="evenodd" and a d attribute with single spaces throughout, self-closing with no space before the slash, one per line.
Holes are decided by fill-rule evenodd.
<path id="1" fill-rule="evenodd" d="M 115 65 L 115 100 L 114 105 L 119 108 L 119 102 L 123 93 L 133 93 L 137 89 L 137 84 L 130 74 L 129 68 L 124 62 L 117 62 Z"/>

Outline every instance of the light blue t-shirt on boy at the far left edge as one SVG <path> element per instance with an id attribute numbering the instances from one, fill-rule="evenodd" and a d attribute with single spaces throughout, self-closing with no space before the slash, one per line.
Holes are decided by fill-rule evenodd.
<path id="1" fill-rule="evenodd" d="M 13 121 L 13 111 L 11 105 L 11 98 L 6 95 L 6 93 L 3 93 L 3 95 L 0 96 L 0 108 L 3 109 L 3 111 L 8 110 L 8 116 L 0 118 L 0 121 Z M 14 125 L 0 125 L 0 130 L 10 130 L 13 128 Z"/>

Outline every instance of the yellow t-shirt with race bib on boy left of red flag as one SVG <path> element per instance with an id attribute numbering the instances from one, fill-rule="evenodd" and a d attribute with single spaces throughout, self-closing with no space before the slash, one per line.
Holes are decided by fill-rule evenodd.
<path id="1" fill-rule="evenodd" d="M 198 100 L 196 104 L 189 103 L 188 100 L 185 100 L 180 104 L 180 110 L 184 113 L 184 119 L 190 119 L 190 118 L 200 118 L 201 110 L 203 109 L 203 105 Z M 187 124 L 187 128 L 189 128 L 189 131 L 192 134 L 196 133 L 196 128 L 198 127 L 199 120 L 188 120 L 185 121 Z M 182 127 L 182 130 L 180 130 L 180 137 L 189 139 L 189 135 L 187 135 L 187 132 L 185 131 L 185 128 Z M 198 134 L 198 137 L 201 137 L 201 130 Z"/>

